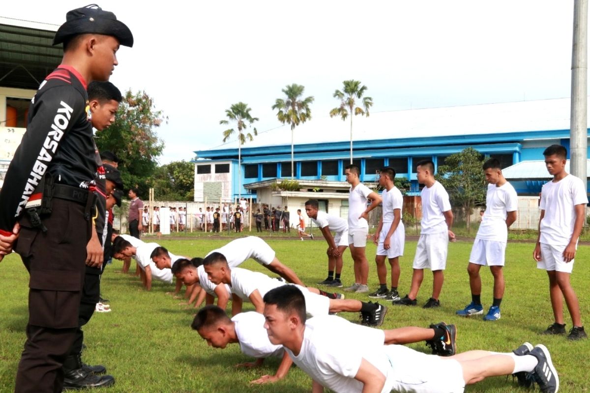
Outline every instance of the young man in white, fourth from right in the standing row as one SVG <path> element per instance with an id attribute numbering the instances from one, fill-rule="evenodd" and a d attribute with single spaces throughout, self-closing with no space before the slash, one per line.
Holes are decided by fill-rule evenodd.
<path id="1" fill-rule="evenodd" d="M 369 295 L 369 298 L 385 298 L 385 300 L 398 300 L 399 282 L 399 257 L 404 255 L 405 228 L 402 222 L 402 207 L 404 197 L 398 187 L 395 187 L 395 170 L 391 167 L 381 169 L 379 173 L 379 185 L 383 187 L 381 199 L 383 210 L 381 220 L 373 237 L 373 243 L 377 246 L 375 263 L 377 264 L 377 276 L 379 289 Z M 387 267 L 385 257 L 389 259 L 391 266 L 391 290 L 387 289 Z"/>

